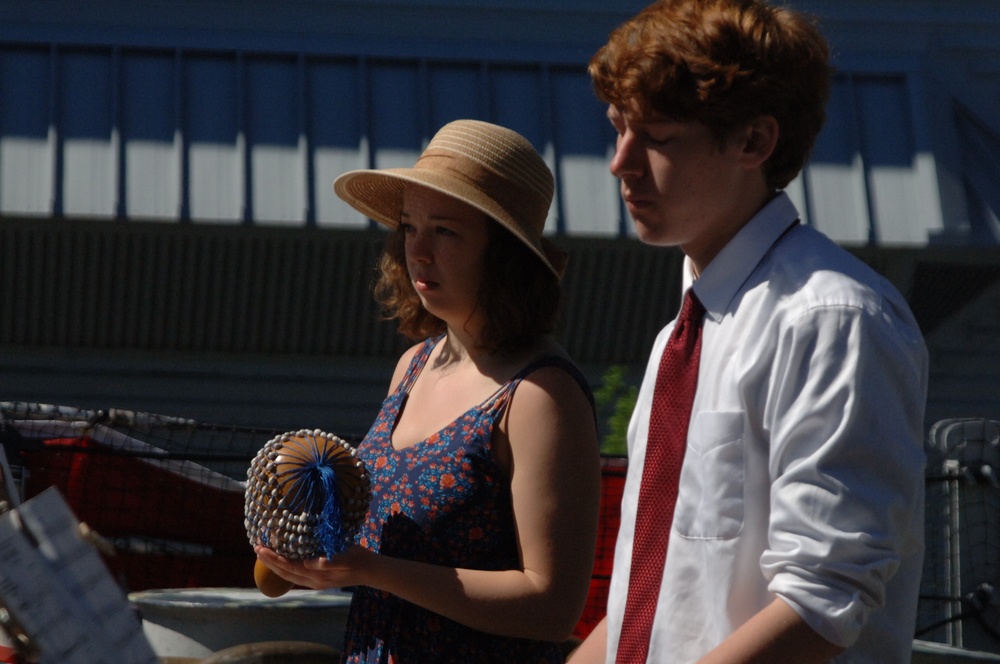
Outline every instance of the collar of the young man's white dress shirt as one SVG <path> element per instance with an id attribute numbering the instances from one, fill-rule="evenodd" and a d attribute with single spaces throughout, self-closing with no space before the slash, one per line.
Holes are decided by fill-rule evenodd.
<path id="1" fill-rule="evenodd" d="M 720 320 L 743 283 L 778 238 L 797 223 L 798 216 L 788 194 L 779 193 L 743 225 L 697 280 L 694 279 L 691 260 L 685 257 L 685 290 L 688 286 L 692 287 L 705 306 L 707 315 L 715 321 Z"/>

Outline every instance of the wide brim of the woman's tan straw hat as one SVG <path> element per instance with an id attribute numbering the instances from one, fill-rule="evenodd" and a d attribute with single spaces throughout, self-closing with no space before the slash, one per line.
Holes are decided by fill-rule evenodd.
<path id="1" fill-rule="evenodd" d="M 521 224 L 496 200 L 471 181 L 453 173 L 421 168 L 386 168 L 356 170 L 342 174 L 333 182 L 336 194 L 370 219 L 396 228 L 403 210 L 403 191 L 416 184 L 444 194 L 479 210 L 514 234 L 558 279 L 562 270 L 549 259 L 542 242 L 527 235 Z"/>

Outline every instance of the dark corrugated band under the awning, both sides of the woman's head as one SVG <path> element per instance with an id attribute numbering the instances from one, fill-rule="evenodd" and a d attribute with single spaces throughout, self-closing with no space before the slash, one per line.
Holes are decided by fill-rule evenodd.
<path id="1" fill-rule="evenodd" d="M 393 357 L 371 282 L 381 231 L 0 221 L 0 347 Z M 563 238 L 563 336 L 642 362 L 677 310 L 681 255 Z"/>

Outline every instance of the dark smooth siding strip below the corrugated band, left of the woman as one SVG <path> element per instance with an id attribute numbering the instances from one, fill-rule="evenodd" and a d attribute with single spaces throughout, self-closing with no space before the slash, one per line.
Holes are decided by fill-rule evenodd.
<path id="1" fill-rule="evenodd" d="M 381 358 L 5 350 L 5 400 L 128 408 L 204 423 L 321 428 L 352 438 L 375 420 L 394 365 L 394 359 Z"/>

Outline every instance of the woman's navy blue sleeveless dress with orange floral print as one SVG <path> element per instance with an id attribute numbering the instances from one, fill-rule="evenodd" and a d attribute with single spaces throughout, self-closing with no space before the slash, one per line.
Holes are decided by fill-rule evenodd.
<path id="1" fill-rule="evenodd" d="M 396 418 L 436 342 L 424 342 L 359 446 L 371 475 L 372 502 L 356 542 L 433 565 L 518 569 L 510 484 L 493 458 L 494 423 L 521 380 L 542 366 L 564 367 L 588 395 L 590 389 L 570 362 L 546 357 L 430 438 L 396 450 L 391 441 Z M 358 587 L 347 618 L 344 661 L 533 664 L 563 658 L 557 643 L 487 634 L 395 595 Z"/>

